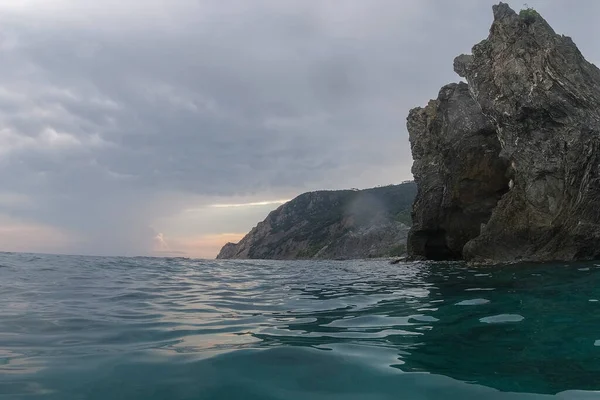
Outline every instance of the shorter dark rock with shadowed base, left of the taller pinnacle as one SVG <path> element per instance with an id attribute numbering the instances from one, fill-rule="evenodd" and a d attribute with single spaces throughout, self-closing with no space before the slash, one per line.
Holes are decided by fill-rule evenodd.
<path id="1" fill-rule="evenodd" d="M 418 185 L 408 252 L 461 259 L 508 191 L 496 130 L 465 83 L 444 86 L 437 100 L 411 110 L 407 126 Z"/>

